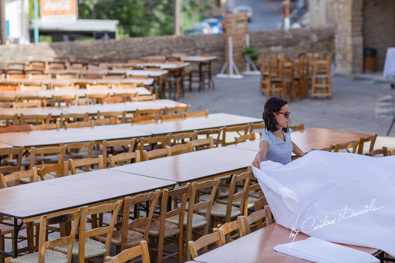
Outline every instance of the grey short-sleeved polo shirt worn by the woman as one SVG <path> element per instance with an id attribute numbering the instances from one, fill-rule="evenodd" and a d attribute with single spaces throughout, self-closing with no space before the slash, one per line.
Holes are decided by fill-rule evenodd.
<path id="1" fill-rule="evenodd" d="M 288 164 L 291 162 L 292 155 L 292 142 L 291 142 L 291 132 L 290 129 L 288 132 L 282 132 L 284 134 L 285 142 L 280 138 L 276 137 L 271 131 L 267 131 L 265 129 L 261 136 L 262 141 L 266 141 L 269 143 L 269 149 L 267 149 L 265 160 L 271 160 L 273 162 L 279 162 L 280 164 Z"/>

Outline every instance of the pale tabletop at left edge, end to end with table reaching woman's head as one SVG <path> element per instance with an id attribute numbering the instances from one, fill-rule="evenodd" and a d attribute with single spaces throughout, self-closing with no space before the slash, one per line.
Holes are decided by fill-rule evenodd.
<path id="1" fill-rule="evenodd" d="M 103 140 L 115 140 L 126 138 L 150 137 L 151 134 L 147 132 L 136 131 L 132 129 L 130 123 L 115 124 L 115 125 L 99 125 L 81 128 L 69 128 L 41 131 L 23 131 L 23 132 L 3 132 L 0 135 L 0 140 L 3 143 L 29 149 L 32 146 L 49 146 L 58 145 L 60 143 L 72 142 L 89 142 Z"/>

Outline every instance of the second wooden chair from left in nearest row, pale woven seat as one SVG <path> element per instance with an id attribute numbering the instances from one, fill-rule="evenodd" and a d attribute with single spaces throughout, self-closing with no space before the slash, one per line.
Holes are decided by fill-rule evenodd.
<path id="1" fill-rule="evenodd" d="M 122 204 L 122 200 L 118 200 L 116 203 L 98 205 L 95 207 L 84 206 L 81 208 L 81 220 L 79 226 L 78 241 L 74 243 L 74 248 L 72 249 L 72 254 L 74 256 L 78 256 L 79 263 L 84 263 L 85 259 L 88 259 L 90 257 L 96 257 L 104 254 L 103 256 L 104 259 L 109 255 L 111 236 L 113 235 L 115 221 L 117 219 L 121 204 Z M 103 214 L 106 212 L 112 212 L 109 226 L 97 228 L 97 226 L 93 223 L 94 220 L 92 220 L 92 229 L 87 230 L 86 226 L 87 226 L 88 215 L 93 216 L 97 214 Z M 96 235 L 103 235 L 103 234 L 107 235 L 105 244 L 88 238 L 88 237 L 94 237 Z M 61 246 L 55 246 L 53 250 L 61 253 L 67 253 L 68 245 L 65 244 Z"/>

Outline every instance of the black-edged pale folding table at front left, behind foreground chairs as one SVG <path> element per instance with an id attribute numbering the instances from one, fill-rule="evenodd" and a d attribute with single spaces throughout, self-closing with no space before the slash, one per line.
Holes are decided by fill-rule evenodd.
<path id="1" fill-rule="evenodd" d="M 102 169 L 0 189 L 0 214 L 31 222 L 42 215 L 54 216 L 85 205 L 111 203 L 125 196 L 170 188 L 173 181 Z M 5 201 L 6 200 L 6 201 Z M 14 251 L 17 239 L 14 242 Z M 3 253 L 4 254 L 4 253 Z M 16 254 L 7 254 L 16 257 Z"/>

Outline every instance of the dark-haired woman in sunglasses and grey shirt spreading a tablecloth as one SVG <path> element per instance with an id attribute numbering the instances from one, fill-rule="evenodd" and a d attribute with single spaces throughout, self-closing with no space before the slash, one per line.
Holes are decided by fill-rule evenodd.
<path id="1" fill-rule="evenodd" d="M 266 101 L 262 114 L 265 130 L 259 142 L 259 151 L 252 162 L 253 166 L 259 169 L 261 162 L 267 160 L 285 165 L 291 162 L 292 152 L 299 157 L 305 155 L 291 140 L 292 129 L 288 128 L 290 114 L 287 101 L 278 97 L 271 97 Z"/>

